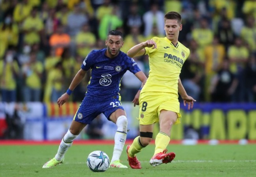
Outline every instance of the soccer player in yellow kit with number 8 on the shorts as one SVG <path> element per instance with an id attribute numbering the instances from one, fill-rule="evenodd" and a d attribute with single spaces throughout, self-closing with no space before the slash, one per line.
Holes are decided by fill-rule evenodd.
<path id="1" fill-rule="evenodd" d="M 156 136 L 155 152 L 150 164 L 158 166 L 174 159 L 175 153 L 166 153 L 166 148 L 170 142 L 172 125 L 180 123 L 178 93 L 184 100 L 184 106 L 188 104 L 188 109 L 193 108 L 193 102 L 196 101 L 187 95 L 179 77 L 189 56 L 189 49 L 178 42 L 182 30 L 181 16 L 177 12 L 169 12 L 165 14 L 164 20 L 166 37 L 153 37 L 132 47 L 127 53 L 129 57 L 148 55 L 150 67 L 148 80 L 139 96 L 140 136 L 126 147 L 129 165 L 135 169 L 141 168 L 136 154 L 152 140 L 156 122 L 160 124 L 160 131 Z"/>

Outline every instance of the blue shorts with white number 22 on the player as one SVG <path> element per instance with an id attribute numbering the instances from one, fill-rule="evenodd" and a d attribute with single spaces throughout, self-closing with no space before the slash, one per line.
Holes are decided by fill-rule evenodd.
<path id="1" fill-rule="evenodd" d="M 100 113 L 103 113 L 109 120 L 111 113 L 117 109 L 124 110 L 119 97 L 108 100 L 93 100 L 85 97 L 76 111 L 73 120 L 83 124 L 91 124 L 91 121 L 100 115 Z"/>

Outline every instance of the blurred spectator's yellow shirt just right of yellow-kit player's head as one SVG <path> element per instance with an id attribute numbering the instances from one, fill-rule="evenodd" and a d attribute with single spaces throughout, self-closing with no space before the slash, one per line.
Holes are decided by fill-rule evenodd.
<path id="1" fill-rule="evenodd" d="M 213 31 L 197 28 L 192 31 L 192 38 L 197 41 L 199 47 L 205 47 L 213 41 Z"/>

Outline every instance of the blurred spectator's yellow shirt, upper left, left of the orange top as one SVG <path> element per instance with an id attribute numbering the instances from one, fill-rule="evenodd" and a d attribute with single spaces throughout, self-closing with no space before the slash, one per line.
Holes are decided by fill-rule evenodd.
<path id="1" fill-rule="evenodd" d="M 43 22 L 38 16 L 36 18 L 33 18 L 32 16 L 26 18 L 23 24 L 23 29 L 29 31 L 25 34 L 24 42 L 27 44 L 40 42 L 39 31 L 43 29 Z"/>

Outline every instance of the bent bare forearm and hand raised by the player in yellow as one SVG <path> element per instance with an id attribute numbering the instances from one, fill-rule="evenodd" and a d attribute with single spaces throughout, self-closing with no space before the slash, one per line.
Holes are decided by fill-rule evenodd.
<path id="1" fill-rule="evenodd" d="M 156 48 L 156 42 L 154 40 L 147 40 L 145 42 L 141 42 L 136 46 L 133 46 L 128 52 L 127 55 L 129 57 L 137 57 L 145 54 L 145 47 L 153 47 Z"/>

